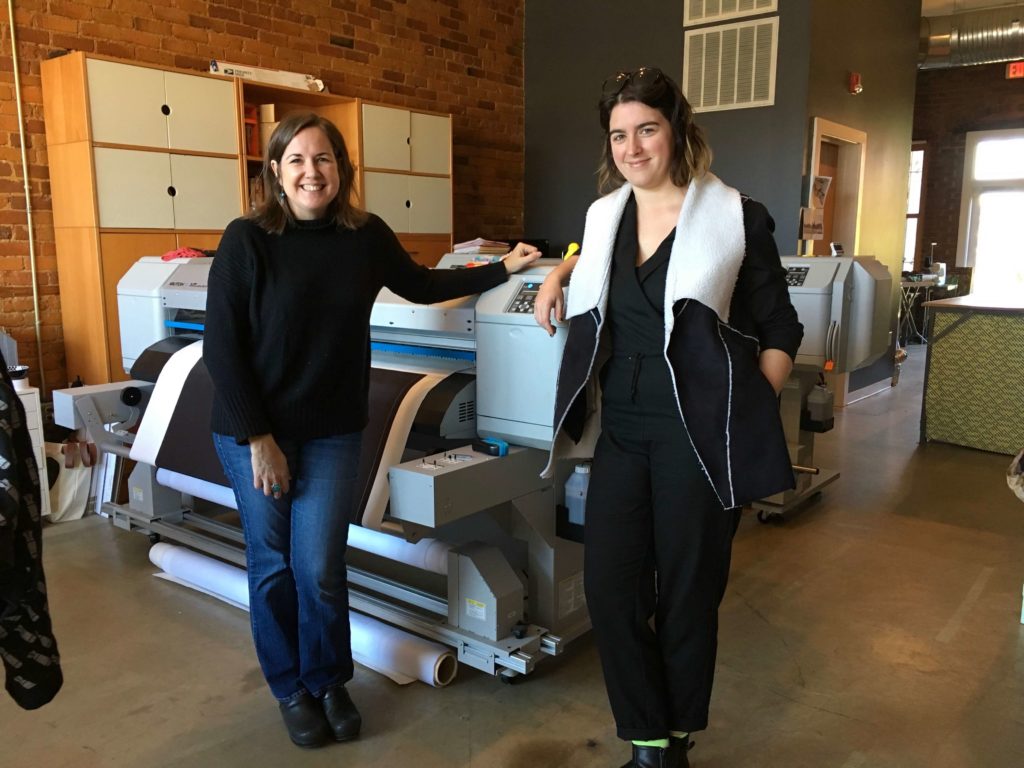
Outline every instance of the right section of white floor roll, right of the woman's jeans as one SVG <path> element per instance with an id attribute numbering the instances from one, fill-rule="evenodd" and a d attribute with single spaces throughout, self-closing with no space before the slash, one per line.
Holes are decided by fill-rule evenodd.
<path id="1" fill-rule="evenodd" d="M 455 680 L 459 663 L 450 648 L 362 613 L 350 611 L 349 622 L 352 658 L 364 667 L 387 675 L 401 685 L 421 680 L 440 688 Z"/>

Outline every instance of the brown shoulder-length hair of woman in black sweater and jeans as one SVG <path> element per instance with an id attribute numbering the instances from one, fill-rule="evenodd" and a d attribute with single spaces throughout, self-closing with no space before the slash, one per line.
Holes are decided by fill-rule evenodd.
<path id="1" fill-rule="evenodd" d="M 297 134 L 306 128 L 319 128 L 331 142 L 334 159 L 338 164 L 338 195 L 328 206 L 327 217 L 333 218 L 339 227 L 355 229 L 367 220 L 367 212 L 355 205 L 355 168 L 348 159 L 345 139 L 338 127 L 325 117 L 312 112 L 295 113 L 282 120 L 270 134 L 263 158 L 260 177 L 263 182 L 263 199 L 249 212 L 249 218 L 268 232 L 281 234 L 288 224 L 295 223 L 295 216 L 288 205 L 285 189 L 278 180 L 278 174 L 270 167 L 271 162 L 281 168 L 285 150 Z"/>

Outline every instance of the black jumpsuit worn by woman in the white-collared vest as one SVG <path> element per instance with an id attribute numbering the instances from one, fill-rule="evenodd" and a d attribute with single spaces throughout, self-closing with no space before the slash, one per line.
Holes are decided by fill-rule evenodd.
<path id="1" fill-rule="evenodd" d="M 665 359 L 674 238 L 637 267 L 631 198 L 612 256 L 612 356 L 600 372 L 601 435 L 587 499 L 587 603 L 624 739 L 707 727 L 718 607 L 739 520 L 699 466 Z"/>

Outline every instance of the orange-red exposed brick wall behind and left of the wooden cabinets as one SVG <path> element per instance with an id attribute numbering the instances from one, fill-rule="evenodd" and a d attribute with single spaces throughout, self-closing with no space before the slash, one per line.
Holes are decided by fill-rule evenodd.
<path id="1" fill-rule="evenodd" d="M 15 35 L 48 388 L 63 345 L 40 61 L 83 50 L 206 71 L 312 73 L 334 93 L 453 114 L 455 237 L 521 233 L 524 0 L 17 0 Z M 0 326 L 39 383 L 10 37 L 0 40 Z M 89 318 L 76 318 L 89 322 Z"/>

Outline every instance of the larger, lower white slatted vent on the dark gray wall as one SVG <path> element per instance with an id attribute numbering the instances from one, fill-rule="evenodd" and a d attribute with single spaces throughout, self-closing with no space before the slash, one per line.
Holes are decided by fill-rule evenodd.
<path id="1" fill-rule="evenodd" d="M 686 33 L 683 88 L 694 112 L 775 103 L 778 16 Z"/>

